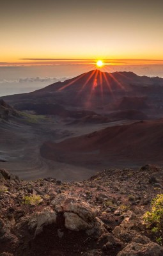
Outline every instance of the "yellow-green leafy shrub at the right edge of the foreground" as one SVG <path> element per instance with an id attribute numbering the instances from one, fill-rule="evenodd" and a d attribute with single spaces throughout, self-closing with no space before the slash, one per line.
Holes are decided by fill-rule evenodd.
<path id="1" fill-rule="evenodd" d="M 162 243 L 163 238 L 163 194 L 157 195 L 151 202 L 151 211 L 144 214 L 144 223 L 151 232 L 159 235 L 156 237 L 157 243 Z"/>

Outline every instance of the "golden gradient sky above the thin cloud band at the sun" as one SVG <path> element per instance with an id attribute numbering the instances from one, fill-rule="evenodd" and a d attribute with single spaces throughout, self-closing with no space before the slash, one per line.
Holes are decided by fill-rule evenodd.
<path id="1" fill-rule="evenodd" d="M 0 64 L 163 60 L 162 10 L 162 0 L 1 1 Z"/>

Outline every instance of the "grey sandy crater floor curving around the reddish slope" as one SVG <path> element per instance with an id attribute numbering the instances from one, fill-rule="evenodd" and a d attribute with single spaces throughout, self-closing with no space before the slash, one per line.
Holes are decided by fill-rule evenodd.
<path id="1" fill-rule="evenodd" d="M 108 125 L 124 124 L 130 121 L 112 122 L 111 124 L 66 125 L 61 118 L 40 118 L 36 124 L 32 120 L 16 118 L 0 122 L 0 168 L 7 168 L 21 179 L 57 177 L 63 180 L 87 179 L 99 166 L 76 166 L 72 163 L 50 161 L 40 155 L 40 147 L 46 141 L 59 142 L 81 134 L 98 131 Z M 72 156 L 73 157 L 73 156 Z"/>

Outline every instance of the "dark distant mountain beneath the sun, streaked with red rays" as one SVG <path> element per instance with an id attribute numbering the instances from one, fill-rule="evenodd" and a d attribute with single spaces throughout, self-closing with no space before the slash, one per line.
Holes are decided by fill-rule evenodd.
<path id="1" fill-rule="evenodd" d="M 100 109 L 105 109 L 105 111 L 117 109 L 123 98 L 125 98 L 123 105 L 128 106 L 125 109 L 141 110 L 141 105 L 140 108 L 136 107 L 137 100 L 129 100 L 129 98 L 140 98 L 139 101 L 143 101 L 143 97 L 146 97 L 146 106 L 157 108 L 158 105 L 161 109 L 163 105 L 161 103 L 163 99 L 162 88 L 163 79 L 160 77 L 137 76 L 134 72 L 126 71 L 107 73 L 91 70 L 31 93 L 8 95 L 3 99 L 13 107 L 17 106 L 20 111 L 26 110 L 24 107 L 28 106 L 28 110 L 35 111 L 37 108 L 38 112 L 39 106 L 35 104 L 45 104 L 45 107 L 47 104 L 52 104 L 65 109 L 80 108 L 97 112 Z"/>

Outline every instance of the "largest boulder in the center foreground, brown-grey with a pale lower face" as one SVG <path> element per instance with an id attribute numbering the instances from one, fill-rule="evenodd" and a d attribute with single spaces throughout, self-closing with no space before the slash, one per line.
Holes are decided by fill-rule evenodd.
<path id="1" fill-rule="evenodd" d="M 69 230 L 86 230 L 86 233 L 99 236 L 104 226 L 96 216 L 98 209 L 84 202 L 80 198 L 74 198 L 61 194 L 52 201 L 56 213 L 63 214 L 65 217 L 65 227 Z"/>

